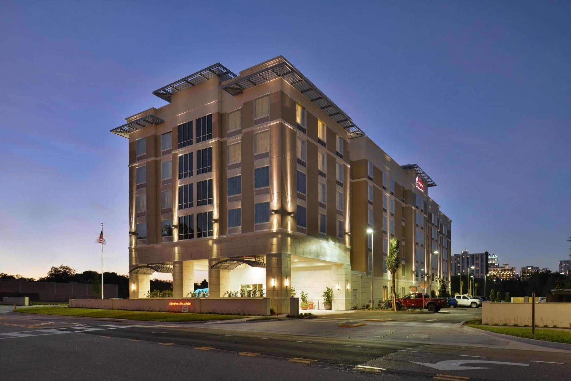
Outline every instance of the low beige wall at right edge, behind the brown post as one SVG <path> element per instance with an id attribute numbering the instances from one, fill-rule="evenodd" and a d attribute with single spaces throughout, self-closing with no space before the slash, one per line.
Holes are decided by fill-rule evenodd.
<path id="1" fill-rule="evenodd" d="M 571 327 L 571 303 L 536 303 L 535 323 L 539 327 Z M 482 303 L 482 323 L 532 325 L 532 303 Z"/>

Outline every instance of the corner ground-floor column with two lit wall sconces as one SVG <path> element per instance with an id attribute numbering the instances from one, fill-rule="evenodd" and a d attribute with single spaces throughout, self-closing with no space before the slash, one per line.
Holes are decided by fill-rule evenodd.
<path id="1" fill-rule="evenodd" d="M 289 314 L 291 254 L 266 255 L 266 288 L 266 295 L 272 298 L 270 307 L 274 308 L 278 314 Z"/>

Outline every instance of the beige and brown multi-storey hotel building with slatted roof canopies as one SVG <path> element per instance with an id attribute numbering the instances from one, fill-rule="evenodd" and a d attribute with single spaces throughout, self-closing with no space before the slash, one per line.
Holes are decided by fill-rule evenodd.
<path id="1" fill-rule="evenodd" d="M 331 287 L 332 308 L 348 310 L 388 298 L 392 237 L 398 294 L 449 283 L 451 220 L 428 196 L 436 184 L 284 57 L 238 75 L 217 63 L 153 94 L 168 104 L 111 130 L 128 138 L 130 298 L 170 272 L 175 298 L 206 278 L 210 298 L 263 290 L 279 313 L 292 288 L 323 308 Z"/>

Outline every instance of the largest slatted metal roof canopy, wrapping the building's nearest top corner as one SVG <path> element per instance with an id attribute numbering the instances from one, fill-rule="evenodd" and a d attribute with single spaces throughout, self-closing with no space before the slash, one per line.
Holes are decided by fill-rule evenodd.
<path id="1" fill-rule="evenodd" d="M 256 70 L 258 69 L 258 70 Z M 313 105 L 319 107 L 329 118 L 333 119 L 339 126 L 349 133 L 349 139 L 364 136 L 363 131 L 353 123 L 352 119 L 335 105 L 317 86 L 313 85 L 309 79 L 305 78 L 286 58 L 279 56 L 270 61 L 266 61 L 247 73 L 235 78 L 234 81 L 223 83 L 223 89 L 229 94 L 241 94 L 248 87 L 259 85 L 260 83 L 271 81 L 272 79 L 283 78 L 297 91 L 309 99 Z"/>

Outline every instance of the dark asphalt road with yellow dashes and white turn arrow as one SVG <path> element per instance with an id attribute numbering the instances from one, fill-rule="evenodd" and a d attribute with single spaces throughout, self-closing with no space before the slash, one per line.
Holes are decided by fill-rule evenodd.
<path id="1" fill-rule="evenodd" d="M 0 369 L 11 378 L 41 379 L 538 380 L 568 379 L 571 372 L 570 353 L 508 349 L 505 342 L 479 334 L 466 336 L 478 343 L 451 339 L 443 345 L 429 340 L 440 330 L 455 335 L 460 329 L 456 326 L 443 328 L 422 321 L 387 326 L 367 322 L 357 328 L 338 324 L 336 319 L 323 318 L 149 324 L 3 314 Z M 294 329 L 299 334 L 292 333 Z M 396 337 L 413 335 L 415 342 L 382 333 L 365 338 L 387 329 Z M 490 361 L 503 363 L 486 363 Z"/>

